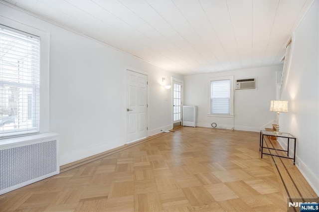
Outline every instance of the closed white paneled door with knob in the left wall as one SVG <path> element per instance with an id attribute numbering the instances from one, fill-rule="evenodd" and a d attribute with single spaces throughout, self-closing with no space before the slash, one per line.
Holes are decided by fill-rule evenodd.
<path id="1" fill-rule="evenodd" d="M 148 76 L 127 70 L 127 141 L 147 137 Z"/>

